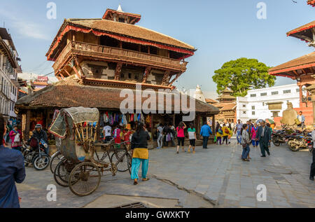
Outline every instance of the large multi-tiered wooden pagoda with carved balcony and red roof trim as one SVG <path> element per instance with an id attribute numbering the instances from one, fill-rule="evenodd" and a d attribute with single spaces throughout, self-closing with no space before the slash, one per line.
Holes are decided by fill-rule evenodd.
<path id="1" fill-rule="evenodd" d="M 55 109 L 71 106 L 99 109 L 101 127 L 119 124 L 134 130 L 137 121 L 143 121 L 152 138 L 160 123 L 179 124 L 185 113 L 177 111 L 175 99 L 172 104 L 159 100 L 155 113 L 136 113 L 136 110 L 120 113 L 120 104 L 125 99 L 120 92 L 125 88 L 137 95 L 137 85 L 141 84 L 142 90 L 152 89 L 162 97 L 173 96 L 172 84 L 186 71 L 186 59 L 196 51 L 188 43 L 136 25 L 140 20 L 141 15 L 126 13 L 121 6 L 118 10 L 107 9 L 102 18 L 64 20 L 46 54 L 48 60 L 55 62 L 52 68 L 59 82 L 18 101 L 25 138 L 29 135 L 31 118 L 42 117 L 47 128 Z M 189 101 L 190 97 L 188 106 Z M 164 113 L 160 113 L 160 107 Z M 214 118 L 219 112 L 197 99 L 195 107 L 193 122 L 198 130 L 207 117 Z"/>

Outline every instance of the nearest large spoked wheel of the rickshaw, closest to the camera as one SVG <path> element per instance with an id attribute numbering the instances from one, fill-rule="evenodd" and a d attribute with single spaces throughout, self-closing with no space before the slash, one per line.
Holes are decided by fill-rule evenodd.
<path id="1" fill-rule="evenodd" d="M 99 167 L 92 162 L 82 162 L 74 167 L 69 176 L 69 188 L 80 197 L 93 193 L 101 182 Z"/>

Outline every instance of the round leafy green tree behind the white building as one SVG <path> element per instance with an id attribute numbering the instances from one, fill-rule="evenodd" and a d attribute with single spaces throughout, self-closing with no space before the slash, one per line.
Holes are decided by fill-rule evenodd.
<path id="1" fill-rule="evenodd" d="M 228 87 L 233 91 L 233 96 L 244 97 L 251 88 L 260 89 L 274 85 L 276 76 L 269 75 L 269 69 L 270 67 L 258 60 L 240 58 L 225 62 L 221 69 L 214 71 L 212 79 L 217 85 L 218 94 Z"/>

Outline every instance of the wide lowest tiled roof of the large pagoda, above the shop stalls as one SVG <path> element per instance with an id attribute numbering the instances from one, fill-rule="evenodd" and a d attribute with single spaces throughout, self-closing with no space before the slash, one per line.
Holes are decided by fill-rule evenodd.
<path id="1" fill-rule="evenodd" d="M 80 80 L 74 76 L 70 76 L 69 78 L 34 92 L 33 95 L 22 97 L 16 102 L 16 106 L 18 109 L 23 109 L 25 106 L 34 108 L 84 106 L 118 110 L 120 108 L 120 103 L 125 99 L 125 97 L 120 97 L 121 90 L 122 89 L 118 88 L 82 85 Z M 136 95 L 135 92 L 134 95 Z M 143 99 L 142 102 L 145 100 L 146 99 Z M 219 112 L 216 107 L 210 104 L 201 102 L 198 99 L 195 99 L 195 102 L 197 112 L 214 114 Z M 189 99 L 187 104 L 189 107 Z M 166 107 L 166 99 L 164 105 Z M 158 103 L 156 107 L 158 107 Z M 174 111 L 174 99 L 172 99 L 172 111 Z"/>

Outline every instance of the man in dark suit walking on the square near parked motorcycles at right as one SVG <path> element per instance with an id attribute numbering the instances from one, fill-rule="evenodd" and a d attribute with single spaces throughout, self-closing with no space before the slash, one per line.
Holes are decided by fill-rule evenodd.
<path id="1" fill-rule="evenodd" d="M 268 143 L 271 141 L 270 128 L 266 126 L 265 121 L 260 122 L 260 127 L 258 127 L 256 140 L 259 141 L 261 157 L 266 157 L 266 151 L 270 155 Z"/>

